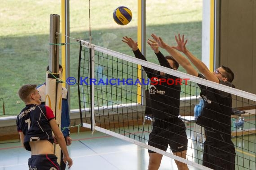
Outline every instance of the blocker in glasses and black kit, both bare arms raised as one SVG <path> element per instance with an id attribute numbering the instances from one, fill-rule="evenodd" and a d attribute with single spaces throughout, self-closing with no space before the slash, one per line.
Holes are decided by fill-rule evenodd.
<path id="1" fill-rule="evenodd" d="M 159 47 L 168 51 L 176 61 L 185 68 L 186 72 L 193 76 L 207 79 L 222 85 L 234 87 L 232 81 L 234 73 L 228 67 L 221 66 L 215 72 L 210 72 L 207 66 L 185 47 L 184 35 L 175 36 L 177 47 L 170 47 L 160 37 L 151 35 L 157 41 Z M 197 72 L 190 61 L 181 55 L 183 52 L 194 66 L 202 72 Z M 214 170 L 235 170 L 235 148 L 231 141 L 231 108 L 232 98 L 230 93 L 199 85 L 200 96 L 203 98 L 204 106 L 202 114 L 197 119 L 197 124 L 205 129 L 206 141 L 203 149 L 203 166 Z"/>

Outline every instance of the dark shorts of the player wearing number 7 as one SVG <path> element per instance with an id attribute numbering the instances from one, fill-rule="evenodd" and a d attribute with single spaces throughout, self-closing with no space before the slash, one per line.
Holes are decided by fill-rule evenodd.
<path id="1" fill-rule="evenodd" d="M 60 170 L 55 155 L 32 155 L 28 167 L 30 170 Z"/>

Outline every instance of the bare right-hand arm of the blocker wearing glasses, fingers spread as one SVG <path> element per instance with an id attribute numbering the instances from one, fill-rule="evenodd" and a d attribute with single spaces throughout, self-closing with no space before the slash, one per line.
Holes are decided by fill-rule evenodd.
<path id="1" fill-rule="evenodd" d="M 175 35 L 175 39 L 177 42 L 177 47 L 173 47 L 181 52 L 183 52 L 188 59 L 194 64 L 194 66 L 199 70 L 199 72 L 202 72 L 205 78 L 209 81 L 214 81 L 216 83 L 220 83 L 219 79 L 212 74 L 212 72 L 207 68 L 207 66 L 198 58 L 196 58 L 189 50 L 186 49 L 185 45 L 187 43 L 187 40 L 184 43 L 184 35 L 178 34 L 178 38 Z"/>

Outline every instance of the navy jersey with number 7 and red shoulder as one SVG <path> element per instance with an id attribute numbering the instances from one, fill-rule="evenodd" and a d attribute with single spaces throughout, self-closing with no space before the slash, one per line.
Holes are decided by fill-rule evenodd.
<path id="1" fill-rule="evenodd" d="M 23 132 L 25 149 L 31 151 L 29 142 L 49 140 L 53 143 L 53 133 L 49 121 L 54 119 L 49 106 L 26 105 L 17 116 L 18 132 Z"/>

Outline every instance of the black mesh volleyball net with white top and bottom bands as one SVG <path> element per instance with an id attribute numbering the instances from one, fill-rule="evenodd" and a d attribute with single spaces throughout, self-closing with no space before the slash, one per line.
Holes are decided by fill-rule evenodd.
<path id="1" fill-rule="evenodd" d="M 178 99 L 180 106 L 176 109 L 179 109 L 179 119 L 186 126 L 188 139 L 186 159 L 173 155 L 170 152 L 170 146 L 165 152 L 148 145 L 153 122 L 156 120 L 161 122 L 161 119 L 152 115 L 152 110 L 154 111 L 156 106 L 150 103 L 148 89 L 150 89 L 150 85 L 153 86 L 152 82 L 150 83 L 153 80 L 146 76 L 141 66 L 178 77 L 177 80 L 164 77 L 165 81 L 162 83 L 169 85 L 166 88 L 172 88 L 174 84 L 181 85 L 180 98 Z M 154 81 L 154 83 L 161 85 L 161 81 Z M 220 115 L 220 118 L 226 117 L 229 120 L 228 123 L 225 124 L 221 120 L 216 122 L 218 119 L 212 117 L 207 119 L 209 124 L 220 124 L 221 127 L 228 128 L 230 128 L 231 122 L 230 129 L 222 131 L 222 129 L 216 128 L 215 131 L 231 131 L 236 150 L 236 169 L 251 170 L 255 168 L 255 94 L 171 70 L 159 64 L 111 51 L 86 41 L 80 41 L 78 91 L 80 118 L 83 127 L 115 136 L 205 170 L 208 168 L 202 166 L 204 128 L 195 124 L 197 113 L 200 113 L 203 108 L 202 102 L 200 102 L 202 98 L 199 95 L 201 90 L 198 84 L 232 94 L 230 113 L 223 115 L 223 113 L 216 111 L 217 109 L 212 110 L 215 114 Z M 162 90 L 152 88 L 150 90 L 150 93 L 166 95 Z M 223 105 L 222 103 L 216 104 Z M 162 121 L 167 124 L 170 123 L 166 120 Z M 154 124 L 154 126 L 156 125 Z M 211 128 L 211 125 L 207 128 Z M 168 128 L 162 130 L 166 132 Z M 172 133 L 175 134 L 176 132 L 172 131 Z"/>

